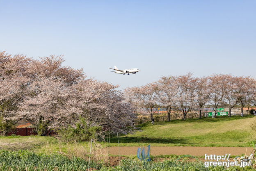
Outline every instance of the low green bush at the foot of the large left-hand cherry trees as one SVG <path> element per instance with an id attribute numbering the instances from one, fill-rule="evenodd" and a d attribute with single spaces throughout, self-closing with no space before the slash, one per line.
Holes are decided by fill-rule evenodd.
<path id="1" fill-rule="evenodd" d="M 75 128 L 68 125 L 68 128 L 63 128 L 58 131 L 58 137 L 62 141 L 90 141 L 92 138 L 96 137 L 97 132 L 101 131 L 100 126 L 91 126 L 90 123 L 87 124 L 84 118 L 80 118 L 80 121 L 76 123 Z"/>

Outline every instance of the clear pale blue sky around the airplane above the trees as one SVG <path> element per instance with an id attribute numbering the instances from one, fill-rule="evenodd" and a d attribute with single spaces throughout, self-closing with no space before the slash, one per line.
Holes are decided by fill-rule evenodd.
<path id="1" fill-rule="evenodd" d="M 64 55 L 120 89 L 187 72 L 256 78 L 256 0 L 0 0 L 3 50 Z"/>

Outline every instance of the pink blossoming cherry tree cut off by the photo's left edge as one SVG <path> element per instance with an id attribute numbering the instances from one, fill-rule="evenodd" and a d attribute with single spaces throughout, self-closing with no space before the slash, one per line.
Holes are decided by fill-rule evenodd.
<path id="1" fill-rule="evenodd" d="M 3 119 L 0 130 L 5 135 L 19 119 L 11 119 L 18 110 L 17 104 L 24 97 L 24 91 L 30 79 L 27 68 L 30 59 L 24 55 L 8 55 L 0 52 L 0 118 Z"/>

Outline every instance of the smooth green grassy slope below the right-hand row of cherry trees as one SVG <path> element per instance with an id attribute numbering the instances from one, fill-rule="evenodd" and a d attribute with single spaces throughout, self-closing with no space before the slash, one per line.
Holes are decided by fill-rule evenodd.
<path id="1" fill-rule="evenodd" d="M 254 116 L 221 116 L 138 125 L 139 131 L 119 138 L 121 146 L 251 146 L 255 140 L 250 124 Z M 117 138 L 111 139 L 117 145 Z"/>

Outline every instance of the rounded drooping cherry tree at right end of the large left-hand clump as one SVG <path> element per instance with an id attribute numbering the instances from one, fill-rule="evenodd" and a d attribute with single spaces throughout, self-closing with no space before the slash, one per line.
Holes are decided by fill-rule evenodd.
<path id="1" fill-rule="evenodd" d="M 123 134 L 134 129 L 136 114 L 130 103 L 125 102 L 124 94 L 115 90 L 118 86 L 90 79 L 74 87 L 76 104 L 82 109 L 80 115 L 92 125 L 100 125 L 103 130 L 111 127 L 112 132 Z"/>

